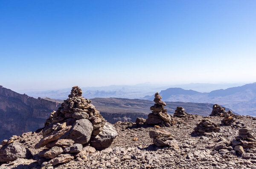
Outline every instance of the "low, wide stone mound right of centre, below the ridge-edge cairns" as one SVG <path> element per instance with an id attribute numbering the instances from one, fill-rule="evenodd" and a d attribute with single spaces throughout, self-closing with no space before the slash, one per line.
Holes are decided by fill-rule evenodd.
<path id="1" fill-rule="evenodd" d="M 205 132 L 219 132 L 219 125 L 213 123 L 209 119 L 203 119 L 194 129 L 194 132 L 201 135 Z"/>

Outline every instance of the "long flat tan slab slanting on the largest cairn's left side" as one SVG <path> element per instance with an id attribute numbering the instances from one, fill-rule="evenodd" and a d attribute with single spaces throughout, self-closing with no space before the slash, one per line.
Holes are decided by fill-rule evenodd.
<path id="1" fill-rule="evenodd" d="M 46 135 L 44 138 L 42 138 L 37 144 L 35 144 L 35 148 L 38 149 L 42 146 L 47 145 L 49 142 L 58 140 L 62 135 L 64 135 L 66 132 L 68 132 L 71 129 L 72 126 L 67 126 L 61 130 L 55 130 L 54 132 L 50 133 L 49 135 Z"/>

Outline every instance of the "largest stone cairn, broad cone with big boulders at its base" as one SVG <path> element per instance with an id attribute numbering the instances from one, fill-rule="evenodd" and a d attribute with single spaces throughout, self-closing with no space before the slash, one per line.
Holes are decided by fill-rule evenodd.
<path id="1" fill-rule="evenodd" d="M 84 158 L 88 149 L 93 152 L 93 149 L 107 148 L 117 132 L 75 86 L 61 107 L 51 113 L 42 134 L 43 138 L 35 148 L 46 148 L 33 159 L 42 166 L 55 166 L 74 158 Z"/>

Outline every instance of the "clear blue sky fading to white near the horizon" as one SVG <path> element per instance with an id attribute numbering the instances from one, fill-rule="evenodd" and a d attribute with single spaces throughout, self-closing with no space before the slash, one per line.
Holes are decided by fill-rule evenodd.
<path id="1" fill-rule="evenodd" d="M 256 82 L 255 0 L 0 0 L 0 85 Z"/>

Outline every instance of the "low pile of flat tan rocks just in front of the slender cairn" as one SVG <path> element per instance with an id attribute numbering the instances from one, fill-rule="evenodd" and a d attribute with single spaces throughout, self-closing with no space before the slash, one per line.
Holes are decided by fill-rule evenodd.
<path id="1" fill-rule="evenodd" d="M 150 130 L 149 137 L 153 138 L 153 143 L 156 146 L 172 146 L 176 149 L 179 148 L 177 141 L 172 137 L 172 134 L 170 132 L 160 129 Z"/>

